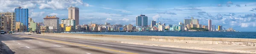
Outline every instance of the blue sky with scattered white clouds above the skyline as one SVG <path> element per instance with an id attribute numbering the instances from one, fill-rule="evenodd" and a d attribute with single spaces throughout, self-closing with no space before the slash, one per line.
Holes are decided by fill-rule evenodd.
<path id="1" fill-rule="evenodd" d="M 133 24 L 141 13 L 166 24 L 199 19 L 199 24 L 236 31 L 256 31 L 256 0 L 0 0 L 0 12 L 14 12 L 15 7 L 29 9 L 29 17 L 43 22 L 45 16 L 68 18 L 67 8 L 79 8 L 79 24 Z"/>

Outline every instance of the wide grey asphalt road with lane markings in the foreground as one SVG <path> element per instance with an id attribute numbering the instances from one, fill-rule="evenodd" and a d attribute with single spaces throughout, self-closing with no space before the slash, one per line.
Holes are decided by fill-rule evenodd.
<path id="1" fill-rule="evenodd" d="M 28 34 L 1 34 L 3 54 L 240 54 L 109 43 Z"/>

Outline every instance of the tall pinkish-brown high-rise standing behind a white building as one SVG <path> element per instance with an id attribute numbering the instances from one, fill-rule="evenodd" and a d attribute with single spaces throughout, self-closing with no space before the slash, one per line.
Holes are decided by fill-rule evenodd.
<path id="1" fill-rule="evenodd" d="M 68 18 L 76 20 L 76 25 L 79 25 L 79 8 L 69 7 L 68 8 Z"/>

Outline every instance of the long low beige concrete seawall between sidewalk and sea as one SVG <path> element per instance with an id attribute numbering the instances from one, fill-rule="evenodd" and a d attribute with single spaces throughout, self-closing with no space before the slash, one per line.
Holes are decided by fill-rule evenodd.
<path id="1" fill-rule="evenodd" d="M 149 40 L 172 43 L 197 43 L 197 44 L 213 44 L 213 45 L 241 45 L 241 46 L 255 46 L 256 39 L 242 39 L 242 38 L 211 38 L 211 37 L 167 37 L 167 36 L 137 36 L 137 35 L 108 35 L 108 34 L 71 34 L 71 33 L 44 33 L 60 34 L 60 35 L 82 35 L 86 37 L 108 37 L 121 38 L 132 40 Z"/>

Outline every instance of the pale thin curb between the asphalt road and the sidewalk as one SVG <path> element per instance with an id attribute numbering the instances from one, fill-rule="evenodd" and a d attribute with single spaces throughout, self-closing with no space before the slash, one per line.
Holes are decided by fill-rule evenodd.
<path id="1" fill-rule="evenodd" d="M 35 34 L 35 35 L 40 35 L 40 34 Z M 47 35 L 40 35 L 40 36 L 47 36 Z M 55 37 L 55 36 L 49 36 L 49 37 Z M 79 39 L 79 40 L 92 40 L 92 41 L 111 42 L 111 43 L 124 43 L 124 44 L 134 44 L 134 45 L 160 46 L 160 47 L 170 47 L 170 48 L 183 48 L 183 49 L 196 49 L 196 50 L 207 50 L 207 51 L 222 51 L 222 52 L 236 52 L 236 53 L 256 54 L 256 51 L 242 51 L 242 50 L 227 50 L 227 49 L 215 49 L 215 48 L 184 47 L 184 46 L 158 45 L 158 44 L 148 44 L 148 43 L 131 43 L 131 42 L 124 42 L 124 41 L 96 40 L 96 39 L 86 39 L 86 38 L 76 38 L 76 37 L 61 37 L 61 38 L 70 38 L 70 39 Z"/>

